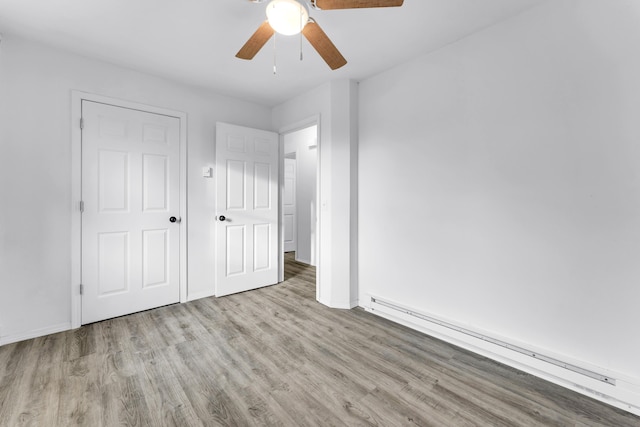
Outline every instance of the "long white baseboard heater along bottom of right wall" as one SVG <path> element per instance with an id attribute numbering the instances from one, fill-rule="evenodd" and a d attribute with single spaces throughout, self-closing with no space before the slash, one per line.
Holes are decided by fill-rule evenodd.
<path id="1" fill-rule="evenodd" d="M 376 301 L 377 300 L 377 301 Z M 483 340 L 476 336 L 469 335 L 443 325 L 452 325 L 452 322 L 440 319 L 443 325 L 429 320 L 424 320 L 419 314 L 429 319 L 438 319 L 437 316 L 420 313 L 411 307 L 406 307 L 388 299 L 381 299 L 370 296 L 365 299 L 363 308 L 375 315 L 384 317 L 388 320 L 402 324 L 409 328 L 418 330 L 427 335 L 438 338 L 442 341 L 461 347 L 465 350 L 472 351 L 489 359 L 527 372 L 536 377 L 542 378 L 559 386 L 568 388 L 585 396 L 599 400 L 616 408 L 623 409 L 635 415 L 640 415 L 640 379 L 633 378 L 628 375 L 614 372 L 606 368 L 585 364 L 581 361 L 571 360 L 557 354 L 549 354 L 549 352 L 539 351 L 532 346 L 523 343 L 512 343 L 513 347 L 529 348 L 539 354 L 544 354 L 556 361 L 563 361 L 568 365 L 579 367 L 586 372 L 596 372 L 606 377 L 609 382 L 599 380 L 594 377 L 586 376 L 575 370 L 569 370 L 561 366 L 548 363 L 543 359 L 537 359 L 529 355 L 525 355 L 498 345 L 492 340 Z M 380 304 L 379 302 L 382 302 Z M 383 305 L 385 302 L 389 304 Z M 406 309 L 406 312 L 390 307 L 393 305 Z M 460 328 L 462 330 L 462 328 Z M 490 333 L 475 330 L 477 335 L 491 337 Z M 497 336 L 496 342 L 504 342 L 505 340 Z"/>

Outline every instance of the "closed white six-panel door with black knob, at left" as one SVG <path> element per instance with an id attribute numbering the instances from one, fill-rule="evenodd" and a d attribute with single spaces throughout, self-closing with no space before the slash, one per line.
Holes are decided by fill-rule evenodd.
<path id="1" fill-rule="evenodd" d="M 179 302 L 180 120 L 82 101 L 82 323 Z"/>

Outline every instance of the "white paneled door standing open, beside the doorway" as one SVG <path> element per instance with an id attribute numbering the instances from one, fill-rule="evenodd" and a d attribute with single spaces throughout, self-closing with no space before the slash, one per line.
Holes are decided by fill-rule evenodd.
<path id="1" fill-rule="evenodd" d="M 278 282 L 278 134 L 216 124 L 216 296 Z"/>

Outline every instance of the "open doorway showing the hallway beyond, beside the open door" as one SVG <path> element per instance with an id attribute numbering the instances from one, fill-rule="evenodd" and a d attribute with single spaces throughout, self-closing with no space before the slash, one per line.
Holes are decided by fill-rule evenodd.
<path id="1" fill-rule="evenodd" d="M 285 263 L 316 266 L 318 235 L 318 126 L 282 133 L 282 227 Z"/>

